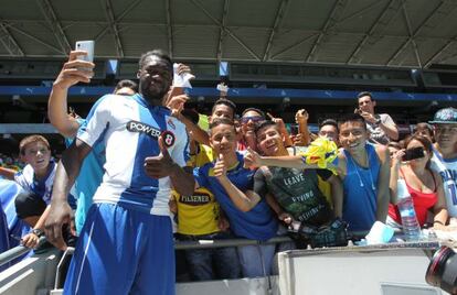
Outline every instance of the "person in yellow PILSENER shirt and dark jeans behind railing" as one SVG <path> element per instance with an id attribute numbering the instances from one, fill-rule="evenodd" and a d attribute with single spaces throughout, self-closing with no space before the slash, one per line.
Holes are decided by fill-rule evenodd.
<path id="1" fill-rule="evenodd" d="M 183 110 L 182 114 L 198 122 L 198 113 Z M 191 159 L 188 166 L 199 167 L 213 161 L 213 150 L 190 138 Z M 214 195 L 205 187 L 195 189 L 192 196 L 173 190 L 170 209 L 178 216 L 177 239 L 181 241 L 216 240 L 233 238 L 226 231 L 227 222 L 221 216 Z M 240 277 L 241 267 L 236 248 L 185 250 L 185 260 L 192 281 Z"/>

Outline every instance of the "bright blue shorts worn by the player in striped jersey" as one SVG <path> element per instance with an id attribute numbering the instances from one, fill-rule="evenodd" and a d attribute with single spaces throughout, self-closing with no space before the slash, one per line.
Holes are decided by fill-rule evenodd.
<path id="1" fill-rule="evenodd" d="M 76 244 L 64 294 L 174 294 L 170 217 L 94 204 Z"/>

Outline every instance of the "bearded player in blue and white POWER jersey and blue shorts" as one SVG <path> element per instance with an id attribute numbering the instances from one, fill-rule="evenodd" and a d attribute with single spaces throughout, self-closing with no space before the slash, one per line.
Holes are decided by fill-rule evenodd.
<path id="1" fill-rule="evenodd" d="M 64 196 L 91 146 L 98 141 L 106 146 L 105 175 L 81 231 L 64 294 L 174 294 L 170 185 L 191 195 L 194 179 L 182 168 L 189 159 L 185 128 L 162 107 L 172 76 L 167 54 L 144 54 L 139 94 L 102 97 L 85 130 L 62 155 L 45 231 L 65 249 L 61 229 L 72 222 L 72 212 Z"/>

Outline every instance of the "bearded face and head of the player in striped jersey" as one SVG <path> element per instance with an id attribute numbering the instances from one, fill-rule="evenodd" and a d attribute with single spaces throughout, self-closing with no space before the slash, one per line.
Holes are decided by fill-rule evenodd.
<path id="1" fill-rule="evenodd" d="M 140 94 L 152 105 L 159 106 L 172 81 L 169 64 L 156 55 L 149 55 L 138 72 Z"/>

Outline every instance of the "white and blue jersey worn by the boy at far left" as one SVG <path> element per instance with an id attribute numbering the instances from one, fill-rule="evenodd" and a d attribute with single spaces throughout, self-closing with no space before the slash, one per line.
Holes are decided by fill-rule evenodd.
<path id="1" fill-rule="evenodd" d="M 54 161 L 50 162 L 50 170 L 46 177 L 42 181 L 35 178 L 35 172 L 30 164 L 14 175 L 14 181 L 26 192 L 41 197 L 46 205 L 51 204 L 52 186 L 54 184 L 55 171 L 57 165 Z"/>

